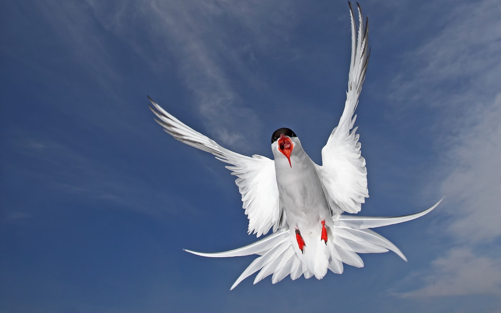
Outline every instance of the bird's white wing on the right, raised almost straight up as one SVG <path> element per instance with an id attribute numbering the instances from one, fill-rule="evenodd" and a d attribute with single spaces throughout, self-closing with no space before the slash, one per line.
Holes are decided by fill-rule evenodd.
<path id="1" fill-rule="evenodd" d="M 357 4 L 358 6 L 358 4 Z M 351 14 L 351 63 L 348 77 L 346 103 L 339 125 L 332 131 L 327 144 L 322 149 L 322 166 L 317 170 L 322 179 L 324 191 L 335 213 L 341 210 L 349 213 L 360 211 L 361 203 L 369 197 L 367 190 L 367 169 L 365 159 L 360 155 L 360 143 L 357 128 L 353 130 L 358 104 L 358 97 L 367 70 L 370 50 L 367 48 L 369 27 L 367 20 L 363 27 L 362 10 L 358 6 L 358 35 L 355 16 Z"/>

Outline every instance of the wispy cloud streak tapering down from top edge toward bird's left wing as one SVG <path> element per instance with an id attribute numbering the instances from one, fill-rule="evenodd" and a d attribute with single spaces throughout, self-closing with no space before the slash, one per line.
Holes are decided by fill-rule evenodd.
<path id="1" fill-rule="evenodd" d="M 112 8 L 102 2 L 88 3 L 101 25 L 128 42 L 153 68 L 161 72 L 170 65 L 176 70 L 192 95 L 186 102 L 198 107 L 209 135 L 240 148 L 255 140 L 254 132 L 242 129 L 262 125 L 240 90 L 242 86 L 263 88 L 255 71 L 257 54 L 287 42 L 294 25 L 290 4 L 280 3 L 281 10 L 272 11 L 269 8 L 279 2 L 151 0 Z M 139 26 L 145 33 L 135 31 Z M 167 99 L 156 101 L 168 108 Z"/>

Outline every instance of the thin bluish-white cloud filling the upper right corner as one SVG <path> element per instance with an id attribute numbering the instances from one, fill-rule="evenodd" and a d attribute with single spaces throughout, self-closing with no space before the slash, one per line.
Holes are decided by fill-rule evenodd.
<path id="1" fill-rule="evenodd" d="M 495 0 L 444 7 L 431 26 L 419 26 L 431 36 L 403 56 L 403 71 L 391 84 L 392 97 L 398 104 L 410 100 L 439 111 L 454 110 L 445 118 L 465 119 L 475 107 L 490 105 L 499 90 L 501 8 Z M 447 120 L 453 127 L 461 122 Z"/>

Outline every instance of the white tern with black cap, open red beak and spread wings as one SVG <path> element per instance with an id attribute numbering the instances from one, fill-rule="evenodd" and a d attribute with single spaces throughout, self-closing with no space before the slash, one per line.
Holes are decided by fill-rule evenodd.
<path id="1" fill-rule="evenodd" d="M 248 157 L 225 149 L 214 140 L 193 130 L 166 112 L 150 97 L 150 109 L 165 132 L 175 139 L 207 151 L 226 166 L 235 180 L 249 220 L 248 233 L 258 237 L 272 229 L 272 234 L 230 251 L 218 253 L 187 252 L 208 257 L 260 255 L 231 286 L 259 271 L 254 283 L 273 274 L 276 283 L 290 275 L 323 278 L 328 270 L 341 274 L 343 263 L 362 267 L 357 253 L 394 251 L 403 253 L 388 239 L 370 228 L 386 226 L 420 217 L 433 210 L 394 216 L 371 217 L 346 215 L 360 212 L 369 196 L 367 169 L 360 153 L 356 134 L 355 109 L 364 82 L 370 49 L 369 27 L 360 6 L 358 30 L 353 8 L 351 18 L 351 61 L 346 103 L 339 125 L 322 148 L 322 165 L 315 164 L 303 150 L 301 141 L 289 128 L 276 130 L 271 138 L 274 160 L 261 155 Z"/>

